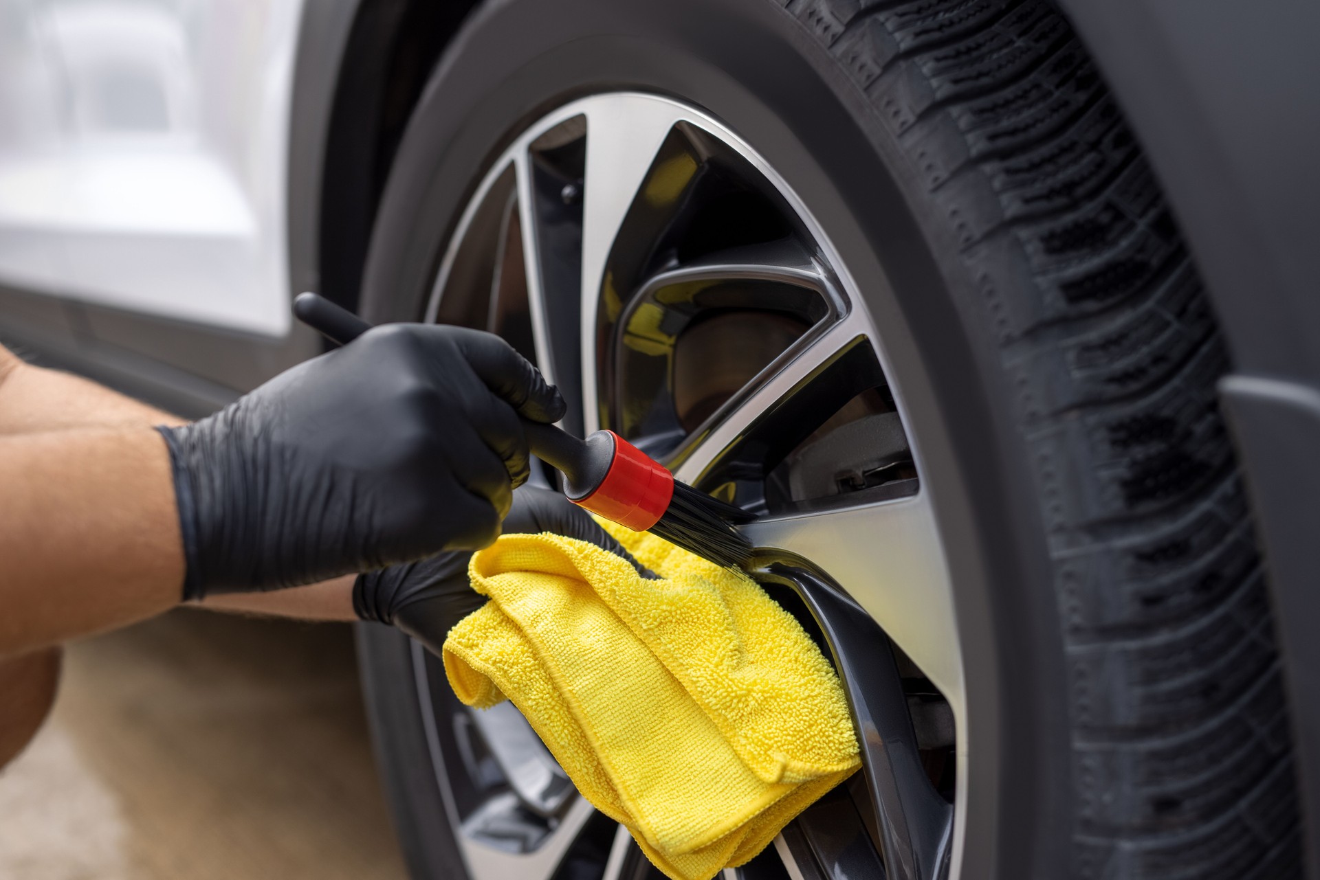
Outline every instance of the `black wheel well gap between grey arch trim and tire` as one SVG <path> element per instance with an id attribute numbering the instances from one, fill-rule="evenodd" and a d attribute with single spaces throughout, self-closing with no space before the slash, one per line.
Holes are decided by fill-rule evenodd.
<path id="1" fill-rule="evenodd" d="M 366 0 L 339 66 L 321 177 L 322 296 L 356 309 L 376 207 L 432 69 L 480 0 Z"/>

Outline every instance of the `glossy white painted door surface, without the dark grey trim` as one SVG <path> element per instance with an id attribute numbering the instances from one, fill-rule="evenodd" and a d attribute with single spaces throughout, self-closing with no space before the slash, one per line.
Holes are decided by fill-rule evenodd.
<path id="1" fill-rule="evenodd" d="M 282 336 L 302 0 L 0 0 L 0 284 Z"/>

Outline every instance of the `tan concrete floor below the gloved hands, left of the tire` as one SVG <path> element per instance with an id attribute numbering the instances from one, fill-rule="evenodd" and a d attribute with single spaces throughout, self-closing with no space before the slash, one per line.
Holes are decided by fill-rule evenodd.
<path id="1" fill-rule="evenodd" d="M 177 611 L 73 645 L 0 877 L 399 880 L 351 631 Z"/>

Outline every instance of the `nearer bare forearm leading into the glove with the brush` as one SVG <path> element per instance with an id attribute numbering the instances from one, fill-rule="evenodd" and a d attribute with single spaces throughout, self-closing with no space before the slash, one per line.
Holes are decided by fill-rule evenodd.
<path id="1" fill-rule="evenodd" d="M 147 426 L 0 437 L 0 657 L 177 604 L 169 453 Z"/>

